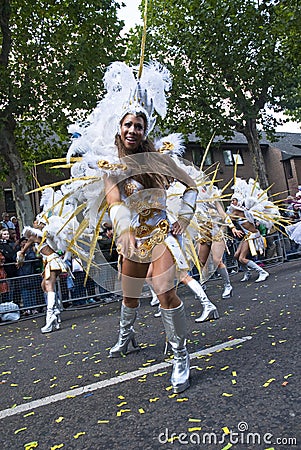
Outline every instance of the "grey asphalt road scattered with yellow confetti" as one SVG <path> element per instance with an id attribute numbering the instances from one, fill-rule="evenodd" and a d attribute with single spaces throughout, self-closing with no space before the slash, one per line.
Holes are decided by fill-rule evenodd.
<path id="1" fill-rule="evenodd" d="M 179 288 L 192 371 L 178 395 L 149 299 L 135 327 L 141 350 L 117 360 L 107 353 L 119 303 L 66 310 L 61 330 L 47 335 L 44 317 L 1 326 L 1 450 L 300 449 L 301 263 L 269 271 L 261 284 L 233 275 L 227 300 L 210 281 L 221 318 L 204 324 Z"/>

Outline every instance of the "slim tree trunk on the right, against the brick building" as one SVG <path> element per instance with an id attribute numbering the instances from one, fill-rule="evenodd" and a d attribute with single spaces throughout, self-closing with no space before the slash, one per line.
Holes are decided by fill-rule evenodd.
<path id="1" fill-rule="evenodd" d="M 256 119 L 249 119 L 241 132 L 247 139 L 248 147 L 252 155 L 253 169 L 259 185 L 261 189 L 266 189 L 269 186 L 269 182 L 256 128 Z"/>

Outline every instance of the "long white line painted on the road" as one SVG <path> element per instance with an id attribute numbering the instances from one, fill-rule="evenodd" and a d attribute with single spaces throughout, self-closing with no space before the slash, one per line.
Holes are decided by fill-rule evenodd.
<path id="1" fill-rule="evenodd" d="M 222 344 L 215 345 L 213 347 L 206 348 L 204 350 L 199 350 L 197 352 L 190 354 L 190 359 L 197 358 L 202 355 L 208 355 L 209 353 L 217 352 L 228 347 L 234 347 L 236 345 L 242 344 L 248 340 L 252 339 L 252 336 L 245 336 L 238 339 L 233 339 L 232 341 L 223 342 Z M 115 384 L 123 383 L 124 381 L 133 380 L 134 378 L 139 378 L 142 375 L 147 375 L 149 373 L 157 372 L 161 369 L 166 369 L 170 367 L 170 362 L 164 362 L 160 364 L 154 364 L 153 366 L 146 367 L 144 369 L 135 370 L 134 372 L 129 372 L 124 375 L 119 375 L 118 377 L 110 378 L 108 380 L 98 381 L 97 383 L 88 384 L 87 386 L 82 386 L 76 389 L 70 389 L 69 391 L 60 392 L 59 394 L 50 395 L 48 397 L 41 398 L 39 400 L 34 400 L 32 402 L 23 403 L 14 408 L 8 408 L 0 411 L 0 419 L 5 417 L 14 416 L 16 414 L 23 413 L 25 411 L 40 408 L 41 406 L 46 406 L 51 403 L 59 402 L 61 400 L 66 400 L 68 397 L 78 397 L 87 392 L 96 391 L 98 389 L 103 389 L 107 386 L 113 386 Z"/>

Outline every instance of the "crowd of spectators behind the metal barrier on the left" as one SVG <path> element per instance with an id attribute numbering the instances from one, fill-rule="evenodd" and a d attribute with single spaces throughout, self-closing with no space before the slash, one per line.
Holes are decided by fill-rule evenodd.
<path id="1" fill-rule="evenodd" d="M 112 225 L 109 222 L 103 224 L 99 240 L 106 260 L 116 268 L 118 255 L 113 243 Z M 24 263 L 16 263 L 17 252 L 26 242 L 27 238 L 22 237 L 16 217 L 10 217 L 4 212 L 0 222 L 0 304 L 12 302 L 13 305 L 18 305 L 21 316 L 37 314 L 45 307 L 41 288 L 43 263 L 34 244 L 27 249 Z M 106 280 L 109 276 L 114 277 L 109 274 L 105 265 L 102 268 L 102 280 L 106 282 L 102 284 L 106 288 L 97 285 L 91 277 L 86 280 L 86 272 L 78 257 L 74 256 L 66 263 L 70 266 L 72 276 L 62 273 L 57 286 L 57 294 L 65 307 L 92 304 L 101 299 L 106 302 L 116 299 L 112 292 L 114 282 Z"/>

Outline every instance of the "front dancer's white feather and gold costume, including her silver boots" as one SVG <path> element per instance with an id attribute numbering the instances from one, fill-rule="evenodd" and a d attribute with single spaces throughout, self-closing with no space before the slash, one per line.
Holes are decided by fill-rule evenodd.
<path id="1" fill-rule="evenodd" d="M 143 176 L 139 178 L 144 173 L 159 173 L 164 174 L 167 179 L 175 178 L 172 168 L 175 164 L 170 164 L 170 157 L 159 152 L 138 153 L 121 158 L 115 145 L 121 120 L 127 114 L 144 115 L 145 138 L 155 125 L 154 113 L 162 118 L 166 114 L 165 91 L 171 86 L 169 71 L 160 64 L 150 63 L 143 66 L 139 79 L 136 72 L 136 68 L 130 68 L 121 62 L 111 64 L 104 76 L 107 93 L 103 100 L 85 122 L 69 127 L 73 136 L 67 154 L 71 179 L 67 183 L 62 182 L 61 190 L 64 195 L 60 203 L 63 204 L 68 199 L 73 205 L 72 217 L 78 219 L 78 226 L 74 229 L 73 236 L 67 237 L 66 250 L 81 257 L 86 271 L 92 269 L 92 276 L 99 284 L 101 270 L 98 270 L 98 266 L 102 256 L 97 248 L 97 240 L 108 208 L 105 178 L 115 180 L 120 192 L 120 202 L 110 204 L 108 208 L 117 243 L 125 232 L 135 235 L 136 245 L 131 249 L 131 259 L 150 263 L 153 249 L 162 243 L 169 249 L 178 272 L 189 270 L 185 249 L 171 233 L 165 190 L 145 189 Z M 59 167 L 62 167 L 63 159 L 51 162 L 58 162 Z M 183 192 L 178 221 L 185 226 L 193 217 L 196 196 L 197 192 L 193 187 L 188 187 Z M 66 220 L 65 226 L 68 226 L 69 220 L 70 218 Z M 64 225 L 58 234 L 64 236 Z M 120 246 L 117 249 L 123 258 L 129 258 L 128 254 L 123 254 Z M 138 296 L 140 293 L 137 292 Z M 122 304 L 119 337 L 110 350 L 111 357 L 127 353 L 130 343 L 137 348 L 133 328 L 137 309 Z M 175 392 L 182 392 L 189 386 L 189 355 L 186 349 L 183 303 L 174 309 L 162 309 L 162 320 L 166 338 L 174 354 L 171 377 L 173 389 Z"/>

